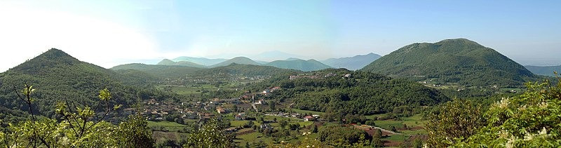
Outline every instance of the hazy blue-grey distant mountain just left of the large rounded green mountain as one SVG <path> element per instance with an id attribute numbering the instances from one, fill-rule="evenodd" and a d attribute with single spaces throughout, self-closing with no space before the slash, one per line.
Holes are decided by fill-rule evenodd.
<path id="1" fill-rule="evenodd" d="M 329 65 L 330 67 L 336 68 L 346 68 L 349 70 L 356 70 L 365 67 L 366 65 L 370 64 L 374 60 L 380 58 L 381 55 L 377 55 L 375 53 L 368 53 L 367 55 L 355 55 L 353 57 L 346 57 L 346 58 L 330 58 L 327 60 L 322 60 L 325 65 Z"/>

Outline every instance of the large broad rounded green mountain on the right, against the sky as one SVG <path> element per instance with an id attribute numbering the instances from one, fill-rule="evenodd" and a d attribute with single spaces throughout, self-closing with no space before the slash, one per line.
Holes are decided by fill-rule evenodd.
<path id="1" fill-rule="evenodd" d="M 471 86 L 522 87 L 525 81 L 538 77 L 492 48 L 468 39 L 413 43 L 361 70 Z"/>

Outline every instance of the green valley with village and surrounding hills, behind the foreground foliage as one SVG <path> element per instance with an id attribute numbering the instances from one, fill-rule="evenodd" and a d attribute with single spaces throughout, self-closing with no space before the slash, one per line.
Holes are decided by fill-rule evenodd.
<path id="1" fill-rule="evenodd" d="M 448 46 L 454 52 L 478 56 L 447 57 L 448 53 L 431 51 L 450 52 L 445 48 Z M 387 61 L 388 57 L 402 62 L 416 60 L 407 53 L 427 51 L 426 48 L 431 54 L 444 54 L 439 58 L 474 62 L 462 62 L 464 65 L 459 67 L 456 63 L 435 65 L 435 61 L 414 65 Z M 490 55 L 479 55 L 477 50 Z M 429 53 L 424 54 L 433 56 Z M 489 59 L 505 63 L 485 62 Z M 132 63 L 104 69 L 53 48 L 0 74 L 0 115 L 10 123 L 25 121 L 30 115 L 59 118 L 60 111 L 53 108 L 60 107 L 60 103 L 94 106 L 96 90 L 107 88 L 113 98 L 110 103 L 119 107 L 110 114 L 108 111 L 107 119 L 88 119 L 122 124 L 130 116 L 141 116 L 155 147 L 193 144 L 186 137 L 194 137 L 209 123 L 215 124 L 213 131 L 228 140 L 224 144 L 231 147 L 302 144 L 310 139 L 329 147 L 421 147 L 433 138 L 428 125 L 435 123 L 432 120 L 442 106 L 462 100 L 472 102 L 466 104 L 470 107 L 488 109 L 494 107 L 494 102 L 528 91 L 522 82 L 553 79 L 532 74 L 503 55 L 466 39 L 435 45 L 414 43 L 356 71 L 329 66 L 306 69 L 302 67 L 306 64 L 284 63 L 316 60 L 266 64 L 243 57 L 212 60 L 213 63 L 210 59 L 195 60 L 206 64 L 162 60 L 158 65 Z M 518 73 L 508 73 L 513 68 L 501 67 L 518 68 Z M 13 93 L 12 88 L 23 84 L 37 89 L 32 95 L 36 105 L 18 103 L 19 93 Z M 37 114 L 25 113 L 29 109 Z M 96 107 L 93 111 L 102 109 Z"/>

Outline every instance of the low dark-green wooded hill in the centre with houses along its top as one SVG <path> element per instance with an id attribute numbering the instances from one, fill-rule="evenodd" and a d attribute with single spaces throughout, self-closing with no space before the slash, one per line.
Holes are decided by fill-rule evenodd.
<path id="1" fill-rule="evenodd" d="M 392 112 L 395 107 L 431 106 L 450 100 L 438 90 L 414 81 L 346 69 L 284 74 L 253 87 L 258 90 L 273 86 L 283 88 L 273 98 L 290 100 L 298 109 L 332 114 L 380 114 Z"/>

